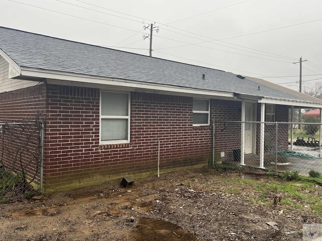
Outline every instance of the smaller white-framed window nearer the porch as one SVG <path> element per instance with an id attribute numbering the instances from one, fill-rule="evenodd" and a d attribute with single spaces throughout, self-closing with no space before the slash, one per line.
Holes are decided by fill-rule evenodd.
<path id="1" fill-rule="evenodd" d="M 193 99 L 193 126 L 209 125 L 209 100 Z"/>

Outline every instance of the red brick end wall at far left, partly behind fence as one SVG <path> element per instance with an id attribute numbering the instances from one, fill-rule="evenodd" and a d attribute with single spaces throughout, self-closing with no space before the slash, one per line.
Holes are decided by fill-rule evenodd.
<path id="1" fill-rule="evenodd" d="M 45 85 L 37 85 L 0 93 L 0 123 L 26 123 L 39 121 L 45 115 Z M 3 164 L 10 171 L 26 168 L 27 176 L 34 178 L 39 162 L 39 126 L 35 124 L 6 125 L 0 134 L 4 139 Z M 21 156 L 20 156 L 21 154 Z M 34 158 L 33 158 L 34 157 Z M 35 182 L 39 179 L 37 176 Z"/>

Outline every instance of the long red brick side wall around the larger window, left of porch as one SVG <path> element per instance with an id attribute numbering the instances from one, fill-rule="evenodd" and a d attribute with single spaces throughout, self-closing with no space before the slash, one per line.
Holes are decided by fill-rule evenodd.
<path id="1" fill-rule="evenodd" d="M 207 163 L 211 127 L 192 126 L 191 97 L 131 93 L 130 144 L 99 145 L 99 89 L 48 85 L 45 185 Z"/>

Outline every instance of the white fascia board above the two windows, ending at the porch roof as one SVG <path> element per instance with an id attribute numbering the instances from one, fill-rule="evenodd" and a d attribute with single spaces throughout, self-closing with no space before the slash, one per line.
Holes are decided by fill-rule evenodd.
<path id="1" fill-rule="evenodd" d="M 205 96 L 219 96 L 219 97 L 234 98 L 234 95 L 231 92 L 199 90 L 194 88 L 161 85 L 161 84 L 147 83 L 147 82 L 138 82 L 138 81 L 132 81 L 132 80 L 126 80 L 126 79 L 98 77 L 98 76 L 91 76 L 91 75 L 66 73 L 66 72 L 60 72 L 60 71 L 48 71 L 48 70 L 41 70 L 41 69 L 30 69 L 30 68 L 23 68 L 23 67 L 21 68 L 21 75 L 29 76 L 29 77 L 37 77 L 37 78 L 46 78 L 46 79 L 52 79 L 52 80 L 65 80 L 65 81 L 73 81 L 78 83 L 89 83 L 93 85 L 95 84 L 95 85 L 105 85 L 105 86 L 109 85 L 109 86 L 137 88 L 137 89 L 150 89 L 154 91 L 162 91 L 165 93 L 175 92 L 175 93 L 187 93 L 187 94 L 196 94 L 196 95 L 205 95 Z"/>

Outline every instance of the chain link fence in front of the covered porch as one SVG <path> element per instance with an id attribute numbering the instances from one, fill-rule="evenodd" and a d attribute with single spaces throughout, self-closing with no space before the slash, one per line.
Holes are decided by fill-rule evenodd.
<path id="1" fill-rule="evenodd" d="M 275 173 L 322 173 L 318 123 L 213 123 L 212 164 L 246 166 Z M 244 150 L 244 152 L 241 152 Z"/>

